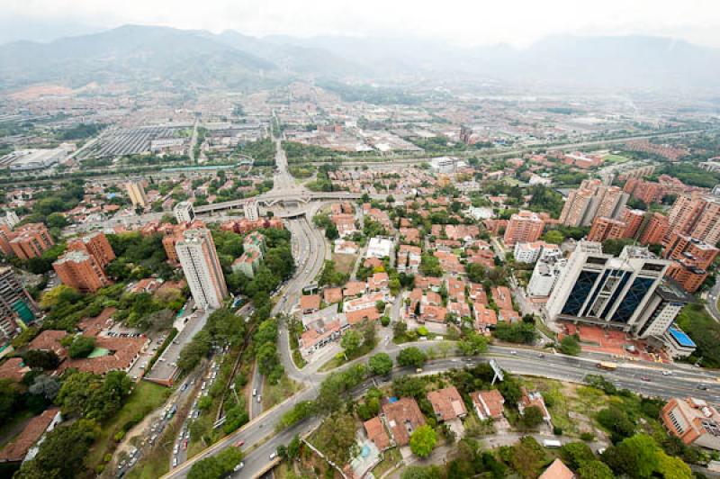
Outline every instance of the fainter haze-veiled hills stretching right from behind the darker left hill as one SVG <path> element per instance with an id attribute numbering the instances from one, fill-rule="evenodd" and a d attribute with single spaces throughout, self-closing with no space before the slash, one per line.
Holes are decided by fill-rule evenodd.
<path id="1" fill-rule="evenodd" d="M 661 37 L 555 36 L 527 49 L 462 48 L 428 40 L 281 37 L 329 50 L 382 75 L 494 78 L 522 85 L 588 89 L 716 91 L 720 50 Z"/>

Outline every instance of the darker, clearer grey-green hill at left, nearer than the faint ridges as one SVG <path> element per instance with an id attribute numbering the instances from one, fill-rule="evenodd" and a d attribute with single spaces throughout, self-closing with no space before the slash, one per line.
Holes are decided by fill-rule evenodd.
<path id="1" fill-rule="evenodd" d="M 187 85 L 243 86 L 277 67 L 252 53 L 196 32 L 127 25 L 49 43 L 0 46 L 0 86 L 138 80 Z"/>

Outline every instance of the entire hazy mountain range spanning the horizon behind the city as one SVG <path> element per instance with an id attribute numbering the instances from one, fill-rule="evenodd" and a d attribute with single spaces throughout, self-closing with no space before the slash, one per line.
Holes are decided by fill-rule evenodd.
<path id="1" fill-rule="evenodd" d="M 0 88 L 82 86 L 270 86 L 333 81 L 511 82 L 518 86 L 716 95 L 720 50 L 661 37 L 557 36 L 527 49 L 455 47 L 425 39 L 319 36 L 257 38 L 125 25 L 49 42 L 0 45 Z"/>

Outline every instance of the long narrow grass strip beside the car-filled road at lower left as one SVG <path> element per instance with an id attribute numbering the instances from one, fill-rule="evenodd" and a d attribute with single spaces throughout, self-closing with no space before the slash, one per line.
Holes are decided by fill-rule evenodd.
<path id="1" fill-rule="evenodd" d="M 113 436 L 117 434 L 129 421 L 139 422 L 150 412 L 159 408 L 167 399 L 170 390 L 164 386 L 140 381 L 130 393 L 130 398 L 121 410 L 112 417 L 100 430 L 100 436 L 95 440 L 87 456 L 88 468 L 94 469 L 103 461 L 106 453 L 112 452 L 117 446 Z"/>

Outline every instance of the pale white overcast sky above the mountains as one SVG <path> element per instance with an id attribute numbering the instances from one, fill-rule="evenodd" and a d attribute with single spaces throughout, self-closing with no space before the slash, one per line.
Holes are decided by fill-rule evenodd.
<path id="1" fill-rule="evenodd" d="M 433 37 L 523 46 L 551 34 L 651 34 L 720 47 L 720 0 L 0 0 L 4 23 L 161 24 L 253 35 Z"/>

